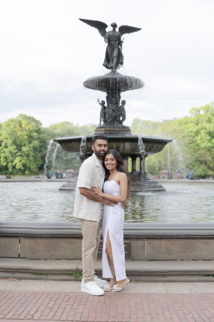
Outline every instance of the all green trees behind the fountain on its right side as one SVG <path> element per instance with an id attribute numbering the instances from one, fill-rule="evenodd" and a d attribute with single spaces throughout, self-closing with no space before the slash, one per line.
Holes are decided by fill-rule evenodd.
<path id="1" fill-rule="evenodd" d="M 162 122 L 133 120 L 133 134 L 161 136 L 174 139 L 167 147 L 155 155 L 147 156 L 147 173 L 158 174 L 160 170 L 171 167 L 173 173 L 178 169 L 185 177 L 189 167 L 193 167 L 197 177 L 204 178 L 214 174 L 214 104 L 190 110 L 190 116 L 164 120 Z M 177 148 L 179 146 L 179 149 Z M 179 152 L 180 150 L 180 152 Z"/>

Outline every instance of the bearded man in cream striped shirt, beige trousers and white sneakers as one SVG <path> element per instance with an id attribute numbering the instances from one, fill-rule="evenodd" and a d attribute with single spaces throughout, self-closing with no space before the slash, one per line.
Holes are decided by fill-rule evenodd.
<path id="1" fill-rule="evenodd" d="M 103 186 L 105 171 L 102 166 L 102 157 L 107 151 L 107 137 L 103 134 L 95 135 L 92 138 L 91 148 L 94 153 L 80 167 L 73 216 L 80 218 L 83 236 L 81 291 L 92 295 L 103 295 L 104 291 L 100 287 L 106 285 L 107 281 L 98 279 L 94 275 L 100 242 L 103 204 L 114 206 L 117 203 L 102 198 L 90 190 L 92 185 Z"/>

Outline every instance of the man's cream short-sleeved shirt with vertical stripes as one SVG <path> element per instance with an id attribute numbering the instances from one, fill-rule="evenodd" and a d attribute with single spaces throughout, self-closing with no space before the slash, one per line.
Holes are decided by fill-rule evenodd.
<path id="1" fill-rule="evenodd" d="M 95 185 L 102 189 L 104 177 L 105 171 L 102 163 L 93 153 L 80 167 L 74 202 L 74 217 L 99 222 L 100 203 L 81 195 L 79 188 L 90 189 L 92 185 Z"/>

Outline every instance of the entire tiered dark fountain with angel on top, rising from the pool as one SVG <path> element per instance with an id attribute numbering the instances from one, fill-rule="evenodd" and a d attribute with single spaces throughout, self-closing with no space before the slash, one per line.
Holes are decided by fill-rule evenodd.
<path id="1" fill-rule="evenodd" d="M 142 88 L 144 83 L 132 76 L 122 75 L 116 69 L 123 64 L 121 35 L 141 30 L 131 26 L 120 26 L 117 32 L 116 24 L 112 23 L 112 31 L 106 32 L 107 25 L 93 20 L 80 19 L 86 24 L 98 29 L 99 33 L 108 43 L 104 66 L 111 71 L 102 76 L 91 77 L 84 81 L 83 86 L 92 90 L 106 92 L 106 102 L 102 100 L 100 124 L 97 126 L 94 134 L 106 134 L 108 136 L 108 149 L 117 150 L 124 161 L 124 169 L 128 171 L 128 158 L 132 160 L 132 172 L 129 179 L 132 185 L 132 191 L 162 191 L 164 187 L 149 178 L 145 171 L 145 157 L 161 151 L 168 142 L 172 140 L 162 137 L 134 136 L 128 126 L 123 124 L 125 120 L 125 100 L 121 99 L 121 93 L 127 90 Z M 101 124 L 103 123 L 103 124 Z M 61 137 L 56 138 L 62 148 L 80 157 L 80 163 L 85 158 L 92 155 L 91 150 L 92 136 L 84 137 Z M 140 171 L 136 171 L 136 158 L 140 158 Z M 63 185 L 61 189 L 75 189 L 76 181 Z"/>

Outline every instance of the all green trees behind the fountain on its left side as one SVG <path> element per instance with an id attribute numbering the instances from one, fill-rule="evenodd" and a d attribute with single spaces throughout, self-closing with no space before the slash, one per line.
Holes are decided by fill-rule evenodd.
<path id="1" fill-rule="evenodd" d="M 20 114 L 0 124 L 0 171 L 13 174 L 38 174 L 43 172 L 49 141 L 57 137 L 93 134 L 93 124 L 80 126 L 70 122 L 53 124 L 42 128 L 40 121 Z M 52 168 L 52 156 L 56 149 L 53 142 L 47 167 Z M 79 169 L 79 158 L 65 152 L 61 147 L 56 151 L 54 169 Z"/>

